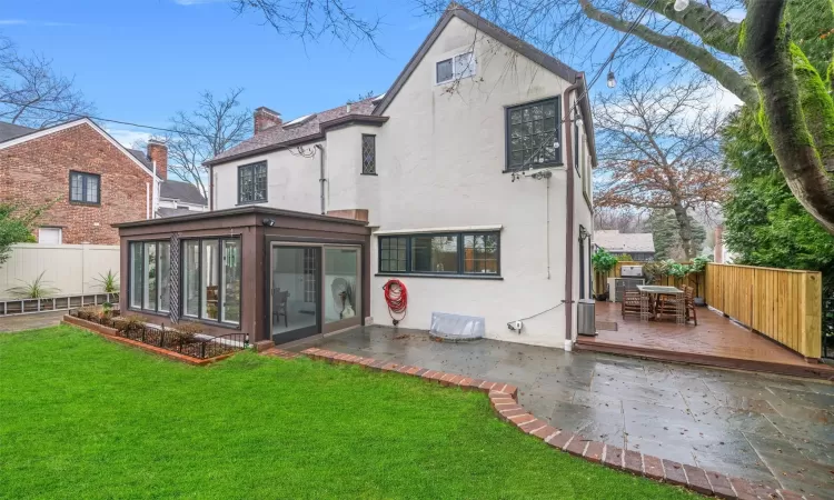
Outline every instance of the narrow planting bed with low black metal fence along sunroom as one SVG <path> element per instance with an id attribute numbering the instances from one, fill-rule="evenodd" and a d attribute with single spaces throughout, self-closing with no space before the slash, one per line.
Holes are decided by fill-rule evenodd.
<path id="1" fill-rule="evenodd" d="M 209 359 L 241 351 L 249 347 L 248 333 L 228 333 L 219 337 L 180 333 L 165 326 L 153 326 L 108 317 L 99 312 L 72 310 L 70 316 L 116 329 L 117 336 L 196 359 Z"/>

